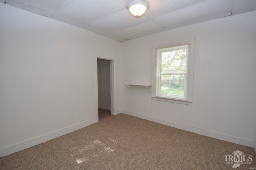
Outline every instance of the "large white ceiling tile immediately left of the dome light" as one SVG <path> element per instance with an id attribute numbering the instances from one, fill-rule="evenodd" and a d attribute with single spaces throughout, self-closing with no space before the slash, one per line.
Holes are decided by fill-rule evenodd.
<path id="1" fill-rule="evenodd" d="M 72 20 L 90 23 L 114 12 L 126 8 L 125 0 L 73 0 L 68 6 L 58 12 Z"/>

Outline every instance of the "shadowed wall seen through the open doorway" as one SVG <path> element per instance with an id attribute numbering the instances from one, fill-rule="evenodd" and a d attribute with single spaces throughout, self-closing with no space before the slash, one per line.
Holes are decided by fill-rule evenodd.
<path id="1" fill-rule="evenodd" d="M 98 59 L 98 107 L 110 110 L 110 61 Z"/>

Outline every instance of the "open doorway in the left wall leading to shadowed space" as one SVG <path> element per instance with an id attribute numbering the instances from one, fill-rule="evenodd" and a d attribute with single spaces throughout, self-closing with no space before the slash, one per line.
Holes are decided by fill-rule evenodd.
<path id="1" fill-rule="evenodd" d="M 98 108 L 110 111 L 113 107 L 113 61 L 97 58 L 98 72 Z"/>

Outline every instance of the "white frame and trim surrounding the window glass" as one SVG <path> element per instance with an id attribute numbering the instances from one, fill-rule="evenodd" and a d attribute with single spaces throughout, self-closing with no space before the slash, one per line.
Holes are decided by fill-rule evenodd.
<path id="1" fill-rule="evenodd" d="M 193 77 L 194 77 L 194 53 L 195 53 L 195 38 L 189 38 L 184 39 L 181 41 L 176 42 L 170 42 L 170 43 L 164 43 L 164 44 L 158 44 L 154 45 L 152 49 L 152 100 L 159 100 L 164 102 L 174 102 L 174 103 L 180 103 L 180 104 L 188 104 L 192 105 L 192 90 L 193 90 Z M 189 65 L 189 83 L 186 84 L 188 86 L 188 97 L 186 100 L 181 100 L 178 98 L 173 98 L 171 96 L 157 96 L 156 94 L 156 49 L 166 48 L 166 47 L 176 47 L 180 45 L 186 45 L 189 44 L 189 53 L 190 53 L 190 65 Z M 187 63 L 186 63 L 187 64 Z M 186 80 L 185 80 L 186 81 Z"/>

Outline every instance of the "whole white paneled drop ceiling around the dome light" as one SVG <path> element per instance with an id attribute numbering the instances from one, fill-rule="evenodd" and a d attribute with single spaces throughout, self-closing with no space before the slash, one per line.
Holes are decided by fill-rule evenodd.
<path id="1" fill-rule="evenodd" d="M 0 0 L 120 42 L 256 10 L 256 0 L 145 0 L 148 10 L 135 18 L 126 8 L 131 1 Z"/>

